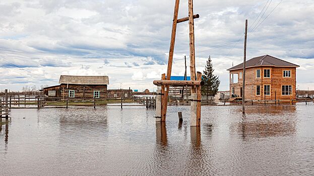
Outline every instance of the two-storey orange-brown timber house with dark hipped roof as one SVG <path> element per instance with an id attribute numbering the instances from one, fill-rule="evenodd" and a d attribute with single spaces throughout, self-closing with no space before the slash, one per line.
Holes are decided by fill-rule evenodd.
<path id="1" fill-rule="evenodd" d="M 296 99 L 296 68 L 299 65 L 264 55 L 245 64 L 245 99 Z M 243 63 L 229 69 L 230 94 L 242 97 Z"/>

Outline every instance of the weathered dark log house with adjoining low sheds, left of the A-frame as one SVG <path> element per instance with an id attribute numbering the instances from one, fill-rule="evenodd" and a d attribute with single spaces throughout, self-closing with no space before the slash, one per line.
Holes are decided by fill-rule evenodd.
<path id="1" fill-rule="evenodd" d="M 132 90 L 107 90 L 108 76 L 61 75 L 59 85 L 44 87 L 43 95 L 49 98 L 101 99 L 131 98 Z M 51 99 L 53 100 L 53 99 Z"/>

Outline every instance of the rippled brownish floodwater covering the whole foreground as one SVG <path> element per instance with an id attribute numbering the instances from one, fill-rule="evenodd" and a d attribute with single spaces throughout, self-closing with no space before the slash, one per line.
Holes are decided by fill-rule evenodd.
<path id="1" fill-rule="evenodd" d="M 182 111 L 183 123 L 177 112 Z M 0 175 L 313 175 L 314 105 L 13 109 Z M 5 122 L 5 119 L 3 119 Z"/>

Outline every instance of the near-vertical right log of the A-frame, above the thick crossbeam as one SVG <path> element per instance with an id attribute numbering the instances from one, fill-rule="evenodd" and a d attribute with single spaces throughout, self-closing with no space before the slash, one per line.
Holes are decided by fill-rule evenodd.
<path id="1" fill-rule="evenodd" d="M 195 80 L 195 45 L 194 45 L 194 18 L 193 18 L 193 0 L 189 0 L 189 36 L 190 36 L 190 70 L 191 80 Z M 192 94 L 196 93 L 195 87 L 192 89 Z"/>

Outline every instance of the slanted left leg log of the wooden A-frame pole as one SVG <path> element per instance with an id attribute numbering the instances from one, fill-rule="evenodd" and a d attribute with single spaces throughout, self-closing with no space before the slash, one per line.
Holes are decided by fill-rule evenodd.
<path id="1" fill-rule="evenodd" d="M 179 12 L 179 3 L 180 3 L 179 0 L 175 0 L 166 80 L 170 80 L 170 77 L 171 77 L 172 59 L 173 59 L 174 42 L 175 42 L 175 33 L 176 33 L 176 25 L 177 25 L 178 12 Z M 162 99 L 162 108 L 161 108 L 161 111 L 162 111 L 161 112 L 161 121 L 162 122 L 166 121 L 168 92 L 169 92 L 169 85 L 166 85 L 165 86 L 165 90 L 164 90 L 164 96 L 163 96 L 163 99 Z"/>

